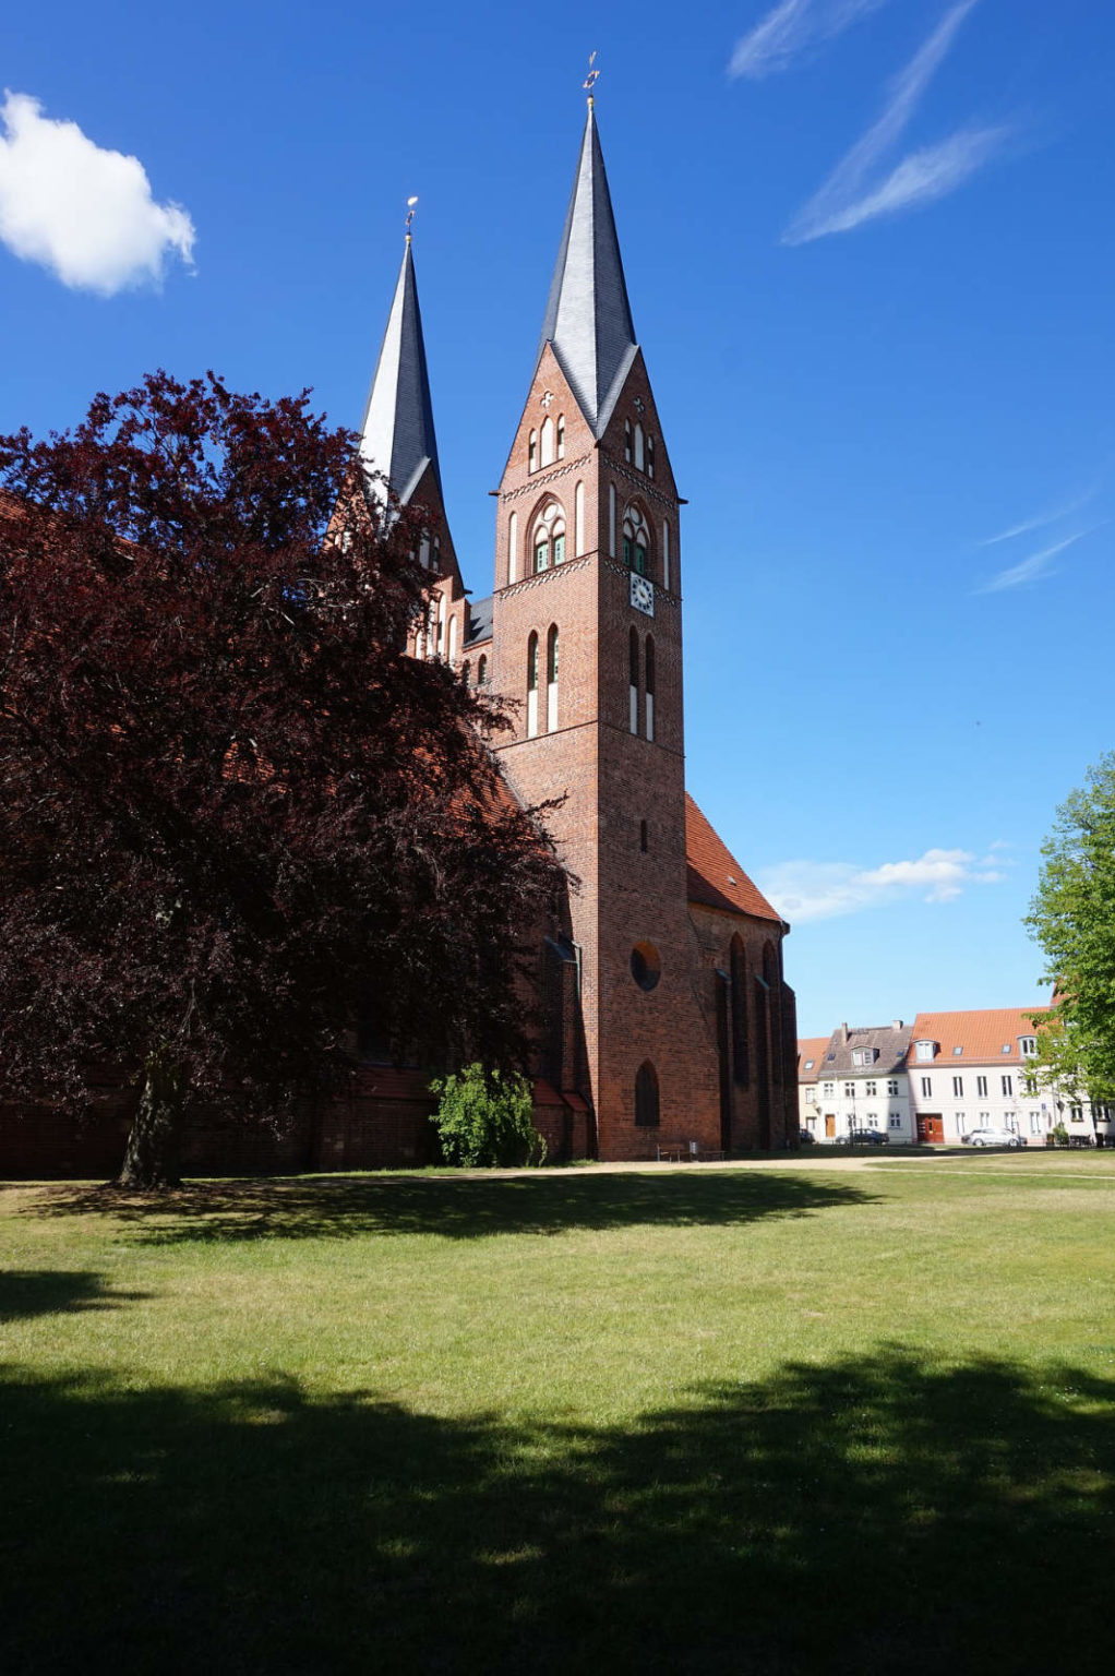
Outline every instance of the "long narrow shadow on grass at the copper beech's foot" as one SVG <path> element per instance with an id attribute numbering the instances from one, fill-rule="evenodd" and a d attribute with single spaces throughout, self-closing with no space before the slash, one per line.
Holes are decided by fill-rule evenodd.
<path id="1" fill-rule="evenodd" d="M 25 1215 L 109 1212 L 154 1244 L 345 1239 L 359 1234 L 565 1234 L 573 1229 L 709 1227 L 805 1217 L 875 1195 L 773 1172 L 662 1175 L 538 1172 L 515 1177 L 272 1177 L 196 1182 L 143 1198 L 117 1188 L 49 1188 Z"/>

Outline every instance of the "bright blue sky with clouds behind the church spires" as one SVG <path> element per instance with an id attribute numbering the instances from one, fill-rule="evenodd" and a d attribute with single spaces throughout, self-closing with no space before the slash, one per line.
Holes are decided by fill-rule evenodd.
<path id="1" fill-rule="evenodd" d="M 1040 1001 L 1040 843 L 1113 732 L 1107 0 L 5 8 L 0 429 L 156 365 L 355 424 L 417 193 L 488 592 L 592 49 L 691 503 L 689 786 L 793 922 L 801 1034 Z"/>

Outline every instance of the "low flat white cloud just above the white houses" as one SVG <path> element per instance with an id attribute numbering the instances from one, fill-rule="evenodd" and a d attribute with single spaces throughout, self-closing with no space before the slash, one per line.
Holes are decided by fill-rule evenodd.
<path id="1" fill-rule="evenodd" d="M 993 850 L 1001 846 L 993 846 Z M 910 861 L 855 866 L 852 861 L 781 861 L 758 878 L 760 890 L 791 923 L 832 920 L 904 897 L 952 902 L 966 885 L 996 885 L 1003 856 L 969 850 L 926 850 Z"/>

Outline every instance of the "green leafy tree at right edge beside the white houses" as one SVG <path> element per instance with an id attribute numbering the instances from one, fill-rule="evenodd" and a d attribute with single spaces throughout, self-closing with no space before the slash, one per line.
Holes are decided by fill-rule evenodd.
<path id="1" fill-rule="evenodd" d="M 1026 917 L 1055 985 L 1035 1014 L 1036 1074 L 1092 1099 L 1115 1098 L 1115 753 L 1056 811 Z"/>

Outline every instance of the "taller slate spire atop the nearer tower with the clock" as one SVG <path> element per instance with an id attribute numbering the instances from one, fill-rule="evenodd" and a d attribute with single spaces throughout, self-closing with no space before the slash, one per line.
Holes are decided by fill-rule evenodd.
<path id="1" fill-rule="evenodd" d="M 635 355 L 635 328 L 592 99 L 538 354 L 547 344 L 602 436 Z"/>

